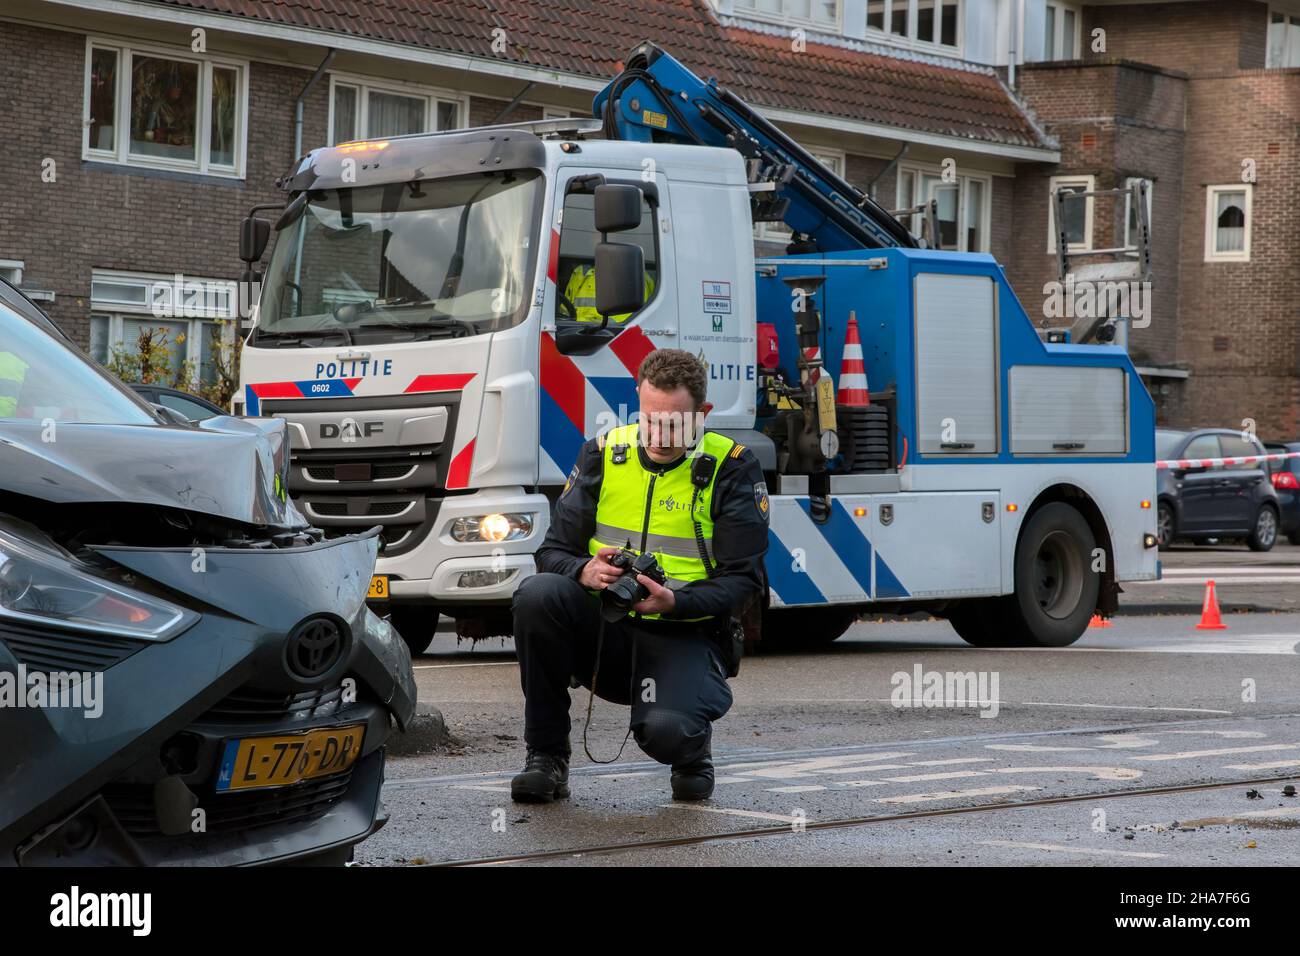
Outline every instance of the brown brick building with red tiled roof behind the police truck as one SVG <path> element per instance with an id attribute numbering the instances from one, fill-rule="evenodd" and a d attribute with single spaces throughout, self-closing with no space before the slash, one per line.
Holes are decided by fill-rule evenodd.
<path id="1" fill-rule="evenodd" d="M 238 221 L 277 200 L 274 181 L 294 159 L 295 100 L 330 49 L 303 98 L 304 151 L 332 142 L 346 108 L 364 98 L 372 113 L 426 101 L 425 127 L 484 125 L 503 111 L 515 121 L 584 114 L 619 57 L 650 38 L 716 74 L 887 207 L 940 198 L 950 216 L 940 238 L 992 254 L 1036 320 L 1044 284 L 1056 278 L 1053 182 L 1148 179 L 1153 310 L 1130 349 L 1161 421 L 1249 418 L 1270 437 L 1300 434 L 1300 203 L 1288 187 L 1300 172 L 1300 69 L 1274 52 L 1277 38 L 1290 43 L 1288 17 L 1300 30 L 1300 0 L 1023 0 L 1023 25 L 1008 21 L 1017 8 L 1008 0 L 942 0 L 944 16 L 953 4 L 958 17 L 952 38 L 946 26 L 924 34 L 916 0 L 889 3 L 907 7 L 907 35 L 881 33 L 867 0 L 815 4 L 835 10 L 824 23 L 774 17 L 751 0 L 603 4 L 599 16 L 590 0 L 545 0 L 517 14 L 486 0 L 385 0 L 373 17 L 341 0 L 9 0 L 0 10 L 9 146 L 0 174 L 10 185 L 0 200 L 0 269 L 21 274 L 62 328 L 103 356 L 150 320 L 139 299 L 150 282 L 238 274 Z M 1091 48 L 1096 29 L 1104 52 Z M 95 44 L 121 51 L 122 70 L 129 56 L 195 62 L 205 92 L 217 70 L 243 82 L 233 168 L 88 148 L 88 129 L 118 143 L 139 131 L 107 133 L 91 116 Z M 342 99 L 346 90 L 356 100 Z M 135 109 L 127 92 L 116 101 L 118 112 Z M 196 150 L 214 142 L 216 126 L 195 130 Z M 1256 177 L 1249 255 L 1206 261 L 1208 203 L 1222 198 L 1210 190 L 1242 183 L 1245 159 Z M 1096 246 L 1122 243 L 1122 207 L 1098 200 L 1091 220 Z"/>

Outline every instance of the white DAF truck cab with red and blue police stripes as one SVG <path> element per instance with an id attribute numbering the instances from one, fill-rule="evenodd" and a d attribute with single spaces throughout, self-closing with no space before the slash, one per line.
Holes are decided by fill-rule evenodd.
<path id="1" fill-rule="evenodd" d="M 289 490 L 315 524 L 382 529 L 370 598 L 417 650 L 439 611 L 508 632 L 550 502 L 582 441 L 634 415 L 649 351 L 701 352 L 708 425 L 754 424 L 741 157 L 660 146 L 647 164 L 580 135 L 569 120 L 350 143 L 281 182 L 235 411 L 289 423 Z M 607 245 L 640 251 L 645 302 L 578 321 L 564 291 L 597 260 L 597 190 L 619 183 L 640 208 Z"/>

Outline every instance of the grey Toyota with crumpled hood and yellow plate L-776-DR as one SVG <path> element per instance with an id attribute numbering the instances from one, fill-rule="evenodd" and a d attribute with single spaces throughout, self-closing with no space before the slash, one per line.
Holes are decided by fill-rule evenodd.
<path id="1" fill-rule="evenodd" d="M 416 701 L 378 529 L 304 520 L 282 423 L 174 424 L 12 302 L 0 866 L 343 862 Z"/>

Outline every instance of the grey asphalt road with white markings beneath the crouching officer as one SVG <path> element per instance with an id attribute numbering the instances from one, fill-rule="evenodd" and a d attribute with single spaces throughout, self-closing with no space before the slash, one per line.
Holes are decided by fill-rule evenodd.
<path id="1" fill-rule="evenodd" d="M 1197 631 L 1196 620 L 1119 617 L 1052 650 L 970 648 L 939 620 L 861 623 L 824 649 L 746 658 L 736 704 L 715 724 L 715 795 L 692 806 L 672 803 L 667 767 L 634 741 L 612 766 L 582 756 L 585 689 L 573 695 L 573 796 L 512 804 L 524 747 L 511 645 L 439 635 L 416 675 L 421 701 L 442 710 L 456 740 L 390 758 L 391 819 L 356 860 L 497 858 L 762 827 L 533 864 L 1290 865 L 1300 797 L 1282 787 L 1300 784 L 1300 614 L 1230 614 L 1226 631 Z M 915 679 L 918 667 L 922 687 L 935 672 L 972 674 L 975 700 L 931 706 L 920 689 L 900 700 L 896 675 Z M 597 757 L 615 753 L 627 713 L 597 700 Z M 1057 797 L 1084 799 L 816 826 Z"/>

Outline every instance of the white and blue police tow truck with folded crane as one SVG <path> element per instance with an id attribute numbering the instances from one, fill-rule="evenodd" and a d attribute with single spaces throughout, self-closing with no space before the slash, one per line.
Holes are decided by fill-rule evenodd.
<path id="1" fill-rule="evenodd" d="M 996 260 L 924 248 L 651 43 L 593 114 L 313 150 L 264 278 L 269 226 L 244 224 L 235 411 L 289 421 L 289 490 L 328 533 L 382 527 L 370 597 L 416 650 L 438 613 L 508 632 L 581 444 L 636 415 L 663 347 L 708 365 L 708 427 L 766 472 L 754 639 L 927 610 L 1060 646 L 1157 576 L 1154 411 L 1123 349 L 1044 341 Z M 755 260 L 755 221 L 790 254 Z M 593 265 L 630 317 L 578 321 Z"/>

